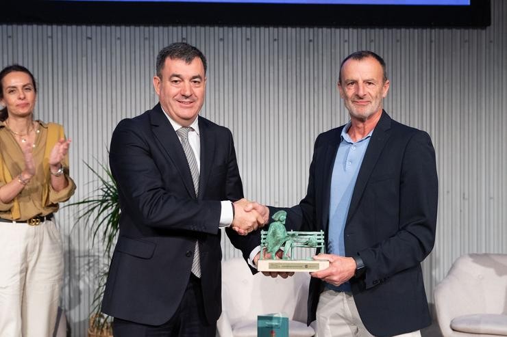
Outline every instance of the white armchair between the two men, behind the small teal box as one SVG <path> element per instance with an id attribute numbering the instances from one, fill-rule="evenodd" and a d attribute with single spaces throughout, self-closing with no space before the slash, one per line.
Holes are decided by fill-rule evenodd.
<path id="1" fill-rule="evenodd" d="M 222 262 L 222 315 L 217 322 L 220 337 L 256 337 L 257 315 L 282 312 L 289 319 L 290 337 L 314 336 L 306 326 L 308 273 L 270 278 L 252 275 L 243 258 Z"/>

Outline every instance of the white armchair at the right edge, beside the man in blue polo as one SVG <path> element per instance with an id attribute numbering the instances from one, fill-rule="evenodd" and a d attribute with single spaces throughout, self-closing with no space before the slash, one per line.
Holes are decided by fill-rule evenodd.
<path id="1" fill-rule="evenodd" d="M 460 256 L 434 296 L 444 337 L 507 336 L 507 254 Z"/>

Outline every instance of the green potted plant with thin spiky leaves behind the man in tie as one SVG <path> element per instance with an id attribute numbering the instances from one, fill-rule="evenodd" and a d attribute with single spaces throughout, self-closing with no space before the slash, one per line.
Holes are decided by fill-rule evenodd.
<path id="1" fill-rule="evenodd" d="M 77 221 L 84 221 L 90 228 L 92 246 L 100 243 L 104 250 L 104 256 L 110 261 L 120 222 L 118 187 L 108 167 L 99 164 L 104 172 L 104 174 L 99 174 L 88 163 L 85 165 L 97 178 L 99 187 L 92 191 L 92 196 L 73 202 L 68 206 L 79 208 Z M 88 337 L 112 337 L 112 318 L 100 312 L 107 275 L 108 264 L 97 275 L 99 285 L 95 289 L 92 301 Z"/>

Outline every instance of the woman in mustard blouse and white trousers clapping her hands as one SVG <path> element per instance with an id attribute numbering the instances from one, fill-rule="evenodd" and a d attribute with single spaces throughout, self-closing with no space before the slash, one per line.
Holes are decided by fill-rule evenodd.
<path id="1" fill-rule="evenodd" d="M 34 120 L 37 87 L 23 66 L 0 72 L 0 335 L 52 336 L 63 279 L 54 213 L 69 200 L 70 139 Z"/>

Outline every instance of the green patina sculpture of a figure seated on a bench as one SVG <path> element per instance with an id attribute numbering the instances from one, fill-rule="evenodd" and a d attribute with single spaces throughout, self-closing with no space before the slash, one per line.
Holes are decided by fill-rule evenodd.
<path id="1" fill-rule="evenodd" d="M 296 232 L 291 230 L 287 232 L 285 228 L 286 211 L 277 211 L 271 217 L 273 222 L 269 224 L 269 230 L 261 231 L 261 247 L 265 248 L 271 259 L 276 259 L 276 253 L 283 246 L 282 259 L 288 260 L 292 256 L 293 247 L 321 248 L 324 249 L 324 233 L 320 232 Z M 261 254 L 262 258 L 262 254 Z"/>

